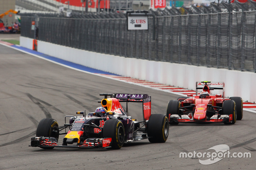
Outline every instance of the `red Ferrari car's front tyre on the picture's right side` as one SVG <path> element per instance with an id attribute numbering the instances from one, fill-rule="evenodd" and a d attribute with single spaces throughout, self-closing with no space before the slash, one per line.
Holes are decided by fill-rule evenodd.
<path id="1" fill-rule="evenodd" d="M 236 123 L 236 103 L 234 100 L 225 100 L 222 106 L 222 115 L 231 115 L 232 122 L 224 122 L 224 124 L 235 124 Z"/>

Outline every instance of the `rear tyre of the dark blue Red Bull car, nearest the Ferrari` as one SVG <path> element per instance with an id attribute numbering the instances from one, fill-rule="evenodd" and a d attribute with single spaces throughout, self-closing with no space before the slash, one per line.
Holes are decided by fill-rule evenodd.
<path id="1" fill-rule="evenodd" d="M 105 126 L 105 125 L 104 125 Z M 148 119 L 148 141 L 151 143 L 164 143 L 169 135 L 169 121 L 166 115 L 153 114 Z"/>

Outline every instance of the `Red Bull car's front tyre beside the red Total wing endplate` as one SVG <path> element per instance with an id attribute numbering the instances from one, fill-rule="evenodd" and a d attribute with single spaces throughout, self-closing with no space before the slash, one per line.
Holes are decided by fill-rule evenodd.
<path id="1" fill-rule="evenodd" d="M 107 120 L 102 129 L 102 137 L 111 137 L 111 149 L 120 149 L 124 144 L 124 125 L 117 119 Z"/>

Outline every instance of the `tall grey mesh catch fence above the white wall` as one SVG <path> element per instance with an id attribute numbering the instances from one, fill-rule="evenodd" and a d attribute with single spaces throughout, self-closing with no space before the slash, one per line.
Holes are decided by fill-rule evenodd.
<path id="1" fill-rule="evenodd" d="M 123 13 L 21 16 L 21 36 L 98 53 L 256 72 L 256 2 L 149 10 L 148 30 L 127 30 Z M 31 15 L 31 14 L 30 14 Z M 155 39 L 153 39 L 155 30 Z"/>

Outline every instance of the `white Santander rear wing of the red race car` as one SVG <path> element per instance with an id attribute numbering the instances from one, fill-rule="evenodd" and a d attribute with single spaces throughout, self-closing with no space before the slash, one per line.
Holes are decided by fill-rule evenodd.
<path id="1" fill-rule="evenodd" d="M 196 95 L 198 95 L 198 89 L 202 90 L 222 90 L 222 97 L 224 98 L 225 94 L 225 83 L 224 82 L 210 82 L 210 81 L 201 81 L 196 82 Z"/>

